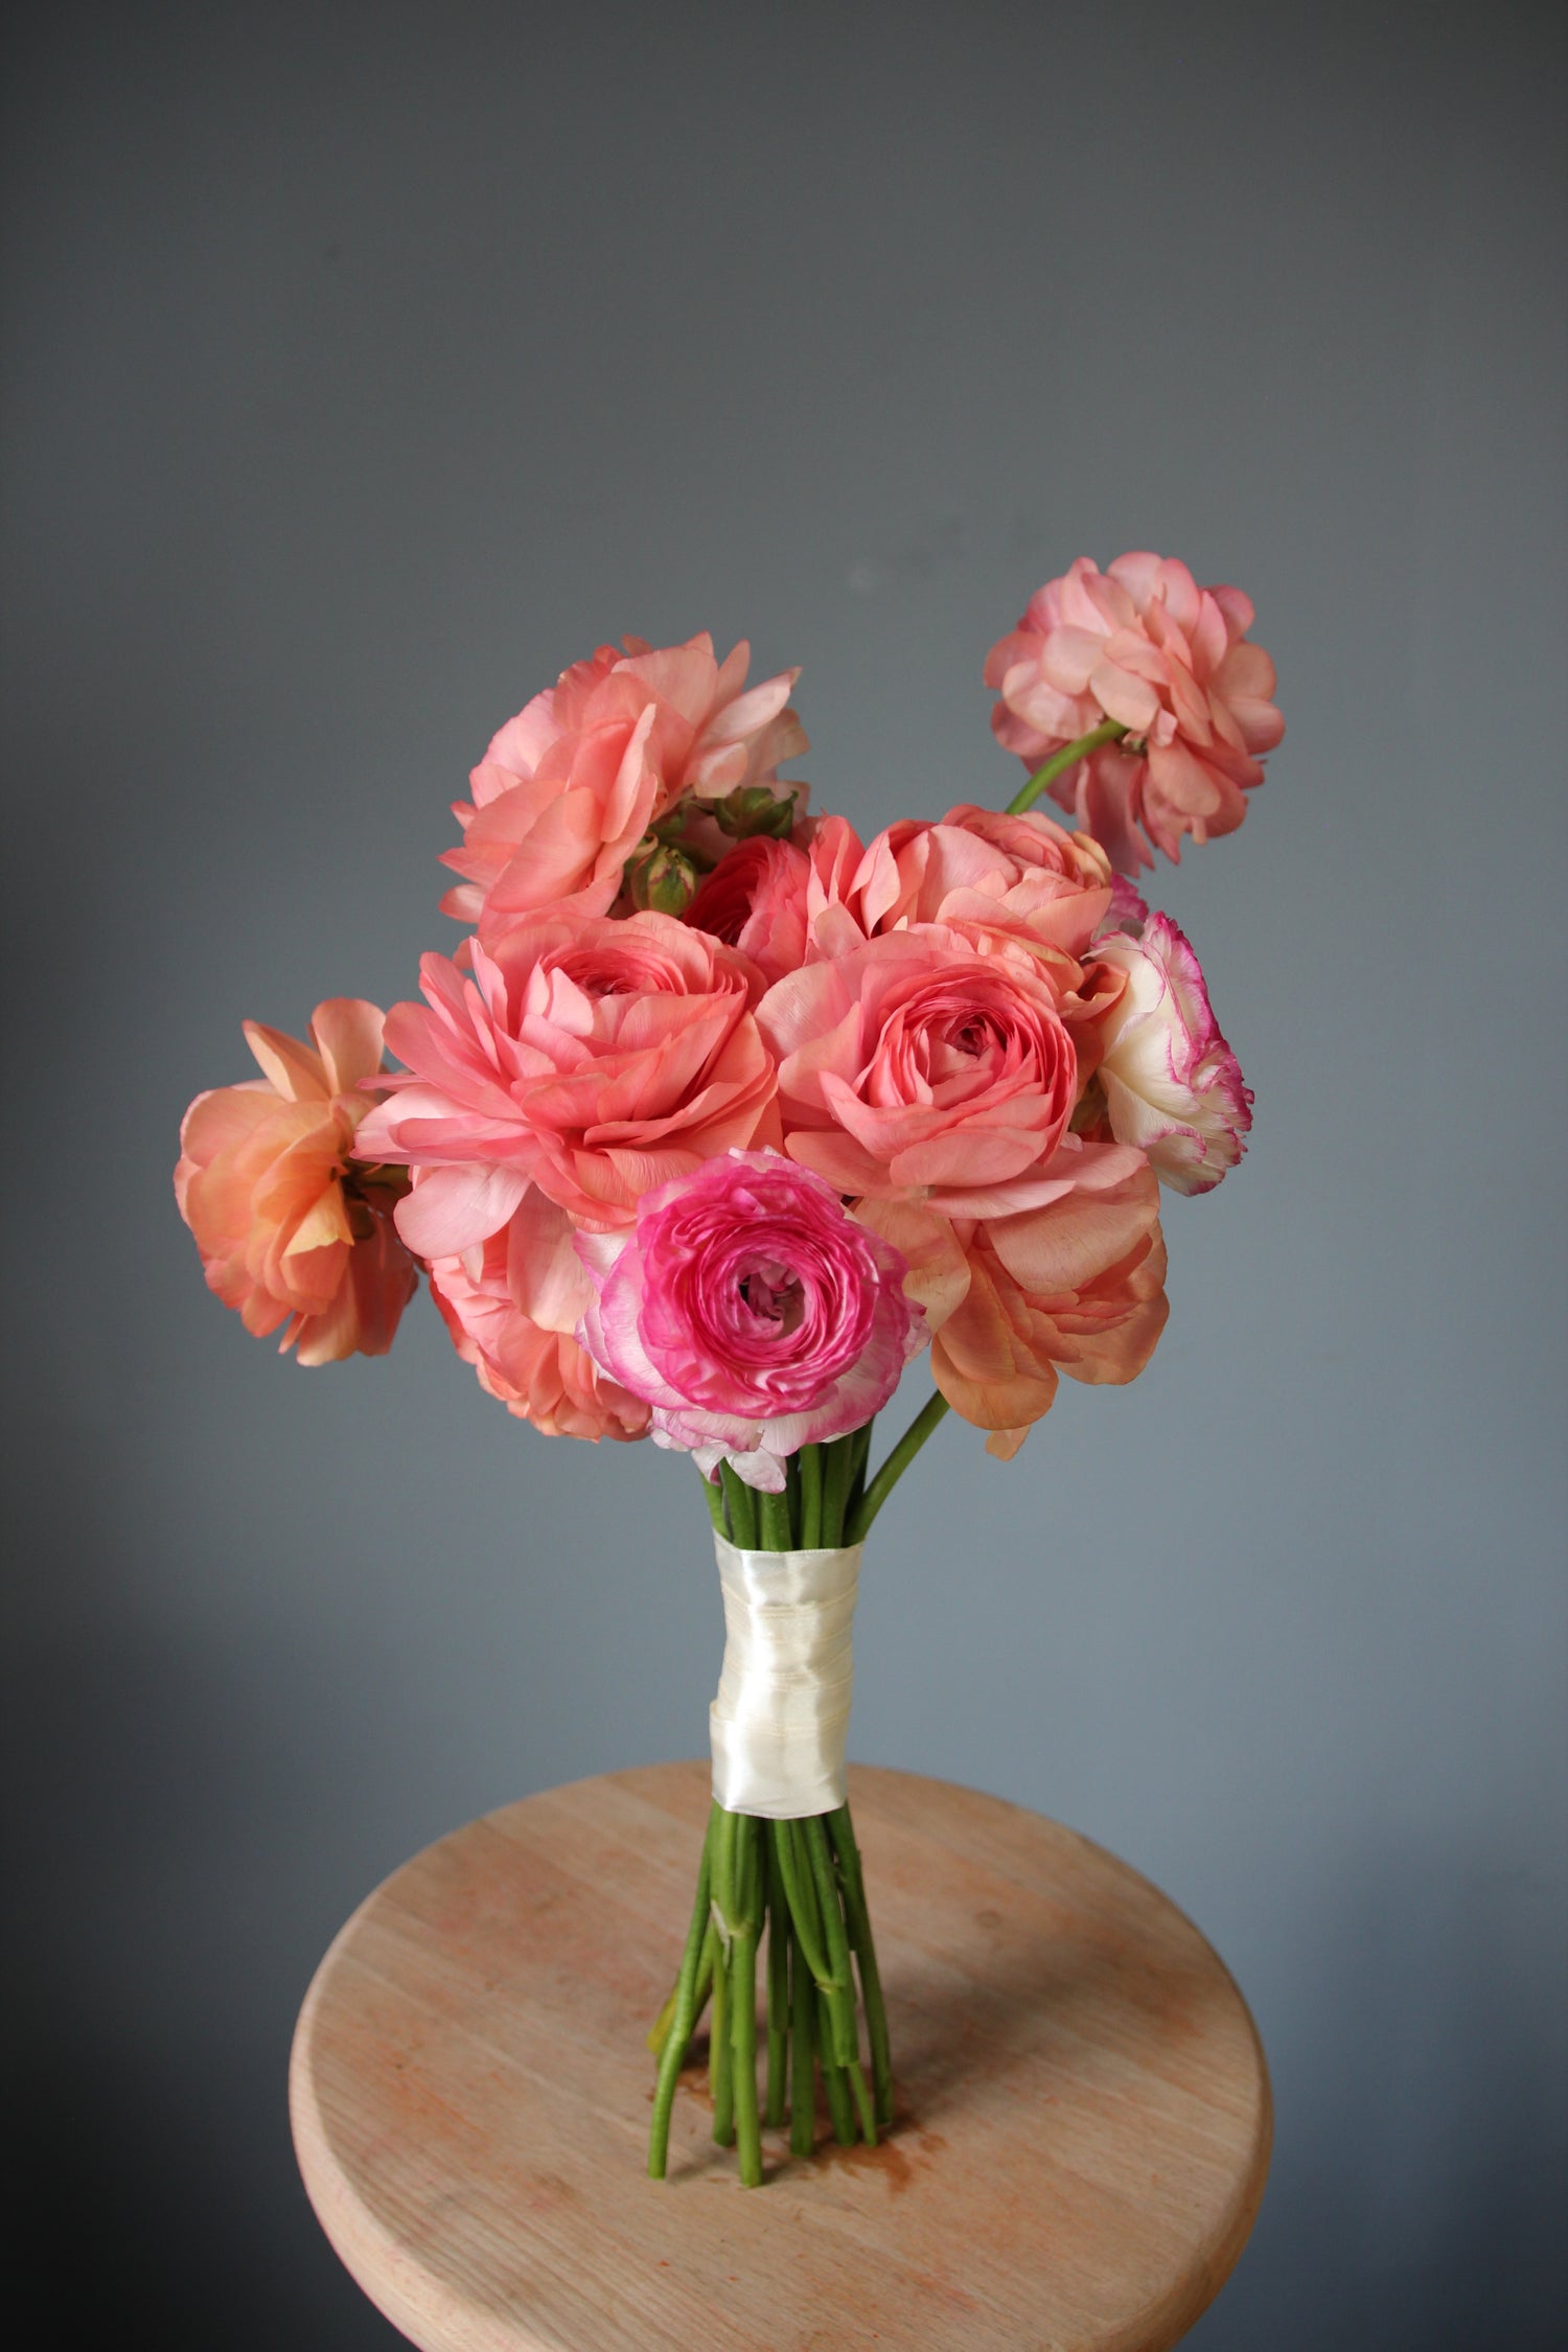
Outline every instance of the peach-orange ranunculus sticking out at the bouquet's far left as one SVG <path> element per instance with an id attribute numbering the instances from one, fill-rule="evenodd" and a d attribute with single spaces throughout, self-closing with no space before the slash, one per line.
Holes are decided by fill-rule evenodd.
<path id="1" fill-rule="evenodd" d="M 301 1364 L 386 1355 L 418 1284 L 393 1228 L 407 1178 L 357 1150 L 381 1028 L 362 997 L 317 1004 L 310 1044 L 247 1021 L 266 1075 L 197 1094 L 179 1131 L 174 1200 L 207 1289 L 256 1336 L 284 1324 Z"/>

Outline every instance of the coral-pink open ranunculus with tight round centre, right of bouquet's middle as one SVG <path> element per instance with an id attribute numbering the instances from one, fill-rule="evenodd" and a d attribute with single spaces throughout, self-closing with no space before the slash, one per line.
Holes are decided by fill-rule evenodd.
<path id="1" fill-rule="evenodd" d="M 776 981 L 757 1021 L 778 1056 L 785 1150 L 837 1192 L 950 1216 L 1053 1197 L 1044 1162 L 1079 1068 L 1025 948 L 980 953 L 945 924 L 910 924 Z"/>

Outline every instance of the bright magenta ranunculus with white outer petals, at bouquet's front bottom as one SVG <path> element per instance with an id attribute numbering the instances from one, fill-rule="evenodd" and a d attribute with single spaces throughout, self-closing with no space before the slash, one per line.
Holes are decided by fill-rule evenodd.
<path id="1" fill-rule="evenodd" d="M 780 1494 L 802 1446 L 858 1430 L 924 1341 L 905 1261 L 778 1152 L 724 1152 L 576 1240 L 581 1341 L 654 1409 L 654 1439 Z"/>

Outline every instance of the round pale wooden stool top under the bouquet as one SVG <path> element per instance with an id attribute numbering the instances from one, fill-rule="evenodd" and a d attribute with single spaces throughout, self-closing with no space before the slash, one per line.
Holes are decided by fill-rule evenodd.
<path id="1" fill-rule="evenodd" d="M 1161 2352 L 1262 2197 L 1241 1994 L 1147 1879 L 1020 1806 L 851 1769 L 898 2124 L 743 2190 L 705 2077 L 649 2180 L 644 2032 L 705 1764 L 578 1780 L 404 1863 L 301 2011 L 294 2145 L 423 2352 Z"/>

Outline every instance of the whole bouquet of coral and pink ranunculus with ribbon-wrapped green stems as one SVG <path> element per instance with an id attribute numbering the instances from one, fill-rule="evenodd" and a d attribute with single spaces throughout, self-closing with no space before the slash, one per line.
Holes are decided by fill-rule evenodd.
<path id="1" fill-rule="evenodd" d="M 1074 562 L 985 666 L 1025 786 L 870 844 L 778 774 L 797 673 L 748 687 L 748 649 L 705 635 L 599 647 L 456 804 L 468 931 L 425 955 L 425 1002 L 334 997 L 308 1044 L 247 1025 L 261 1077 L 186 1115 L 179 1209 L 249 1331 L 381 1355 L 423 1270 L 508 1411 L 703 1477 L 726 1651 L 649 2037 L 656 2176 L 708 2004 L 745 2183 L 764 2124 L 813 2152 L 818 2084 L 842 2143 L 893 2117 L 844 1799 L 860 1545 L 950 1409 L 1006 1461 L 1060 1374 L 1143 1371 L 1159 1185 L 1208 1192 L 1241 1155 L 1197 955 L 1128 877 L 1246 814 L 1281 736 L 1251 621 L 1180 562 Z M 926 1350 L 933 1392 L 872 1465 Z"/>

